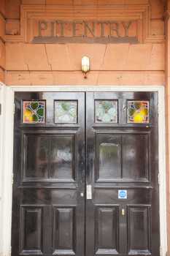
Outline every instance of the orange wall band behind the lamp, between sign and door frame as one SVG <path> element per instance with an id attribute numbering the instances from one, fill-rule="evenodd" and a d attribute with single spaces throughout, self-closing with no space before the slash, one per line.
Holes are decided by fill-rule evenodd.
<path id="1" fill-rule="evenodd" d="M 8 85 L 164 83 L 162 44 L 77 46 L 7 43 L 6 49 Z M 83 79 L 80 72 L 83 55 L 90 56 L 88 80 Z"/>

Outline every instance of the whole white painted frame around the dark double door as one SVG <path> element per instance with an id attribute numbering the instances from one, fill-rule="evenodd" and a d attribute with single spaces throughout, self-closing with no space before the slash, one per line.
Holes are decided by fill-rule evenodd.
<path id="1" fill-rule="evenodd" d="M 164 86 L 5 86 L 0 83 L 0 255 L 11 253 L 13 111 L 16 91 L 157 91 L 158 92 L 158 151 L 160 173 L 160 236 L 161 256 L 167 252 L 166 221 L 166 128 Z"/>

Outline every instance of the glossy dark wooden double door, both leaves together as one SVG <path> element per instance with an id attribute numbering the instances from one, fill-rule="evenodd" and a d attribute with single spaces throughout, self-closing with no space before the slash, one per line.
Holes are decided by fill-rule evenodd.
<path id="1" fill-rule="evenodd" d="M 128 109 L 140 102 L 145 121 Z M 151 92 L 15 94 L 12 256 L 159 255 L 157 105 Z"/>

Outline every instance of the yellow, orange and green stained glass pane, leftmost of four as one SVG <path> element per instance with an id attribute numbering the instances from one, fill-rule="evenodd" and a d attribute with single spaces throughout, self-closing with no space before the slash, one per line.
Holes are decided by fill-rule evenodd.
<path id="1" fill-rule="evenodd" d="M 45 100 L 23 101 L 23 123 L 45 123 Z"/>

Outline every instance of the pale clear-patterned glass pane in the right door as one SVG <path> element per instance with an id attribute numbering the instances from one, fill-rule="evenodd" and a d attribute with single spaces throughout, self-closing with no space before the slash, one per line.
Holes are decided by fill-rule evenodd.
<path id="1" fill-rule="evenodd" d="M 95 101 L 96 123 L 117 123 L 117 100 Z"/>

